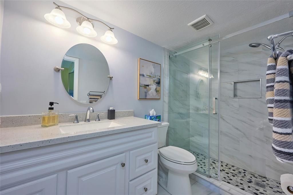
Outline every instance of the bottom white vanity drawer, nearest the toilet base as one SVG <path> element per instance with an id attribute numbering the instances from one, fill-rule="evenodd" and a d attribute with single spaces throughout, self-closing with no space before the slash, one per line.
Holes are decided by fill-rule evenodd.
<path id="1" fill-rule="evenodd" d="M 128 194 L 157 194 L 157 169 L 154 169 L 129 182 Z"/>

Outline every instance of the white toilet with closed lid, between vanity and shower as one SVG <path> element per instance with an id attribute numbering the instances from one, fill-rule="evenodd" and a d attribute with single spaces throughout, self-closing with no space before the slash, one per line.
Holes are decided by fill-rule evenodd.
<path id="1" fill-rule="evenodd" d="M 158 183 L 172 195 L 192 194 L 189 174 L 197 169 L 195 156 L 175 146 L 167 146 L 169 123 L 158 126 Z"/>

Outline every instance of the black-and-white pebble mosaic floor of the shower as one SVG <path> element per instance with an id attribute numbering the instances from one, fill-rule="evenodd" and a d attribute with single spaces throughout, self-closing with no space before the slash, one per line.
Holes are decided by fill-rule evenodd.
<path id="1" fill-rule="evenodd" d="M 208 174 L 208 157 L 189 150 L 197 160 L 197 171 Z M 275 179 L 270 179 L 256 173 L 241 169 L 234 165 L 222 162 L 220 165 L 220 178 L 228 184 L 232 184 L 244 191 L 251 194 L 260 195 L 278 195 L 285 194 L 281 189 L 281 184 Z M 210 158 L 210 175 L 212 177 L 218 177 L 218 160 Z M 259 182 L 260 185 L 256 185 L 255 182 Z M 262 187 L 259 187 L 261 186 Z M 264 187 L 264 188 L 263 188 Z"/>

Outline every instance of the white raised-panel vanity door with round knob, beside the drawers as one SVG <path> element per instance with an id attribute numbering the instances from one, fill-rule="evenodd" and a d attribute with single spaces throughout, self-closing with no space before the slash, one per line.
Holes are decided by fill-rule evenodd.
<path id="1" fill-rule="evenodd" d="M 67 171 L 67 194 L 124 194 L 125 153 Z M 121 163 L 126 165 L 122 167 Z"/>

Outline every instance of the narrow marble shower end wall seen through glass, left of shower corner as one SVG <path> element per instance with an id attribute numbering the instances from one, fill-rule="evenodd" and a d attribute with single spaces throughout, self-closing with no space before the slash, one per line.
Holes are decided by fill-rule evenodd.
<path id="1" fill-rule="evenodd" d="M 189 61 L 177 56 L 169 60 L 169 145 L 190 148 Z"/>

